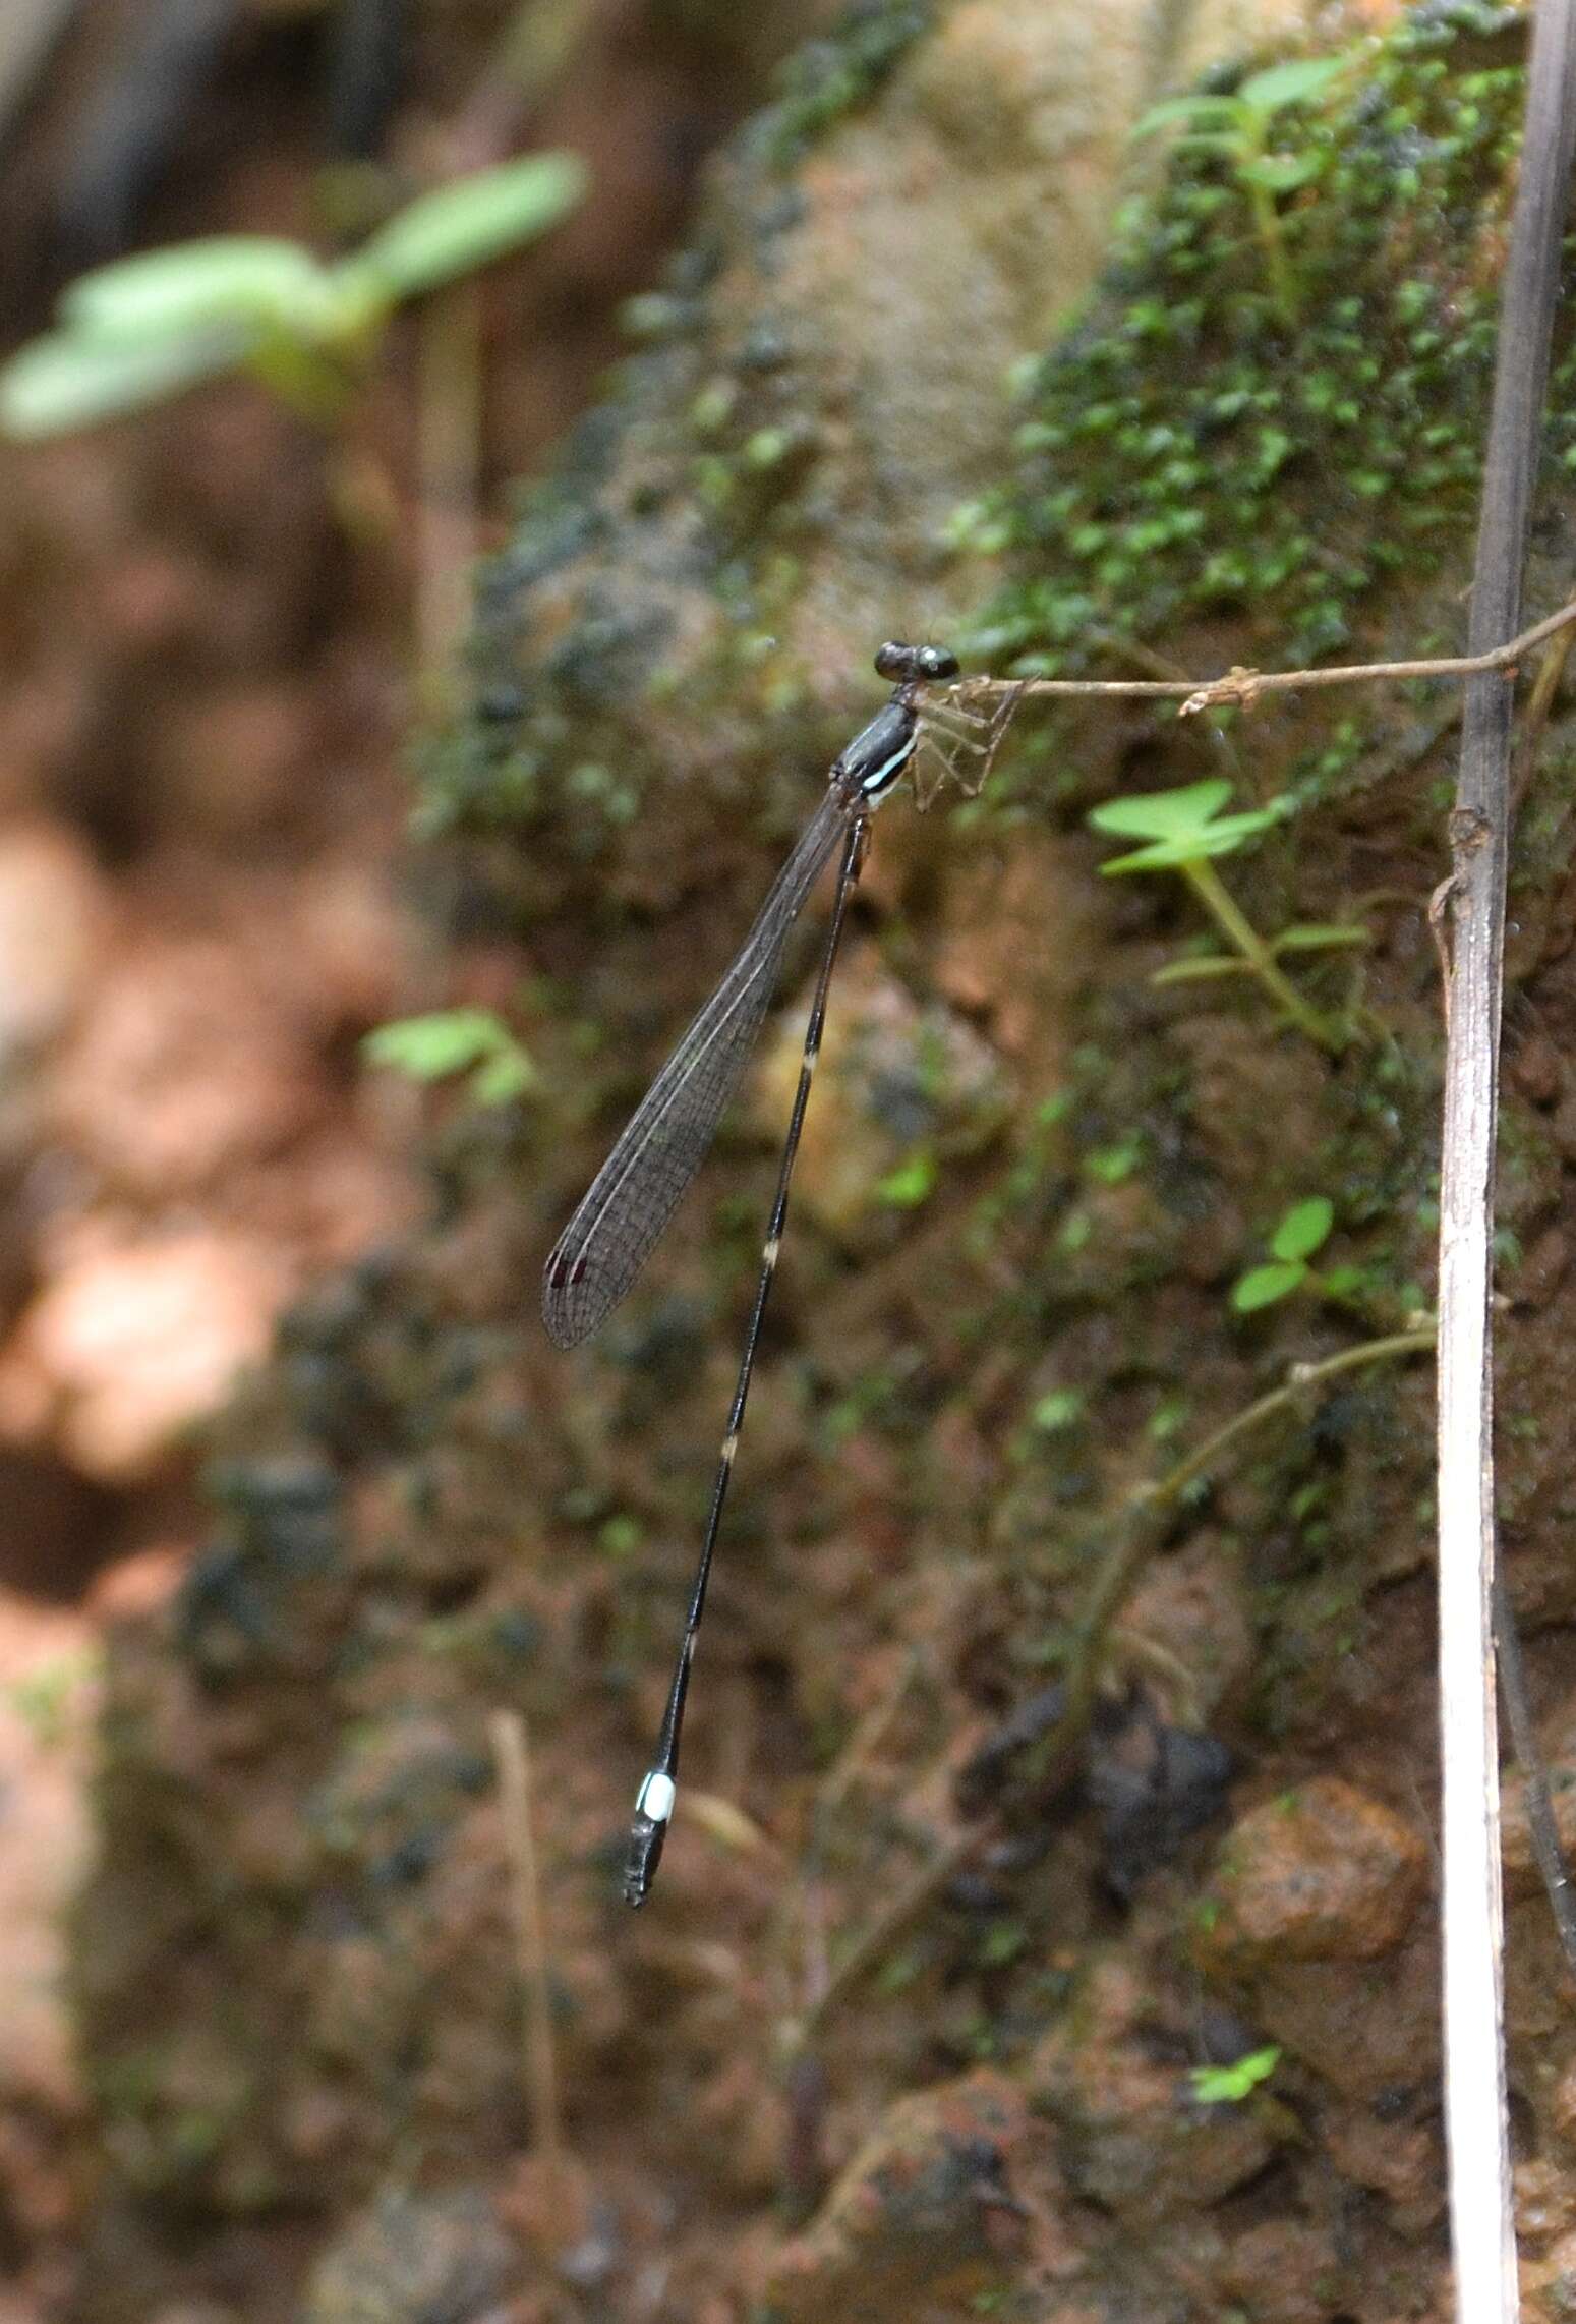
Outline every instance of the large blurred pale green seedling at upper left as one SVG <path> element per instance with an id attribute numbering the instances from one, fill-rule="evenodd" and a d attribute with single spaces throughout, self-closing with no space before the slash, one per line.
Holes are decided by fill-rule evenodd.
<path id="1" fill-rule="evenodd" d="M 335 425 L 395 307 L 535 242 L 583 186 L 572 153 L 532 153 L 418 195 L 337 263 L 216 235 L 98 267 L 63 293 L 56 330 L 0 370 L 0 432 L 67 435 L 225 372 Z"/>

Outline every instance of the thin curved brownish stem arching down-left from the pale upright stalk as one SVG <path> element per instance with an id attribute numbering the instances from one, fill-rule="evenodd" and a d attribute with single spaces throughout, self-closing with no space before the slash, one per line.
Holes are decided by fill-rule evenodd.
<path id="1" fill-rule="evenodd" d="M 1067 1706 L 1044 1745 L 1037 1750 L 1037 1771 L 1044 1785 L 1058 1780 L 1088 1731 L 1111 1627 L 1132 1597 L 1134 1583 L 1160 1538 L 1155 1518 L 1172 1508 L 1188 1485 L 1211 1469 L 1223 1452 L 1230 1452 L 1241 1436 L 1248 1436 L 1267 1420 L 1274 1420 L 1276 1413 L 1299 1404 L 1311 1387 L 1323 1387 L 1325 1380 L 1334 1380 L 1344 1371 L 1360 1371 L 1367 1364 L 1388 1364 L 1395 1357 L 1425 1355 L 1432 1346 L 1432 1327 L 1418 1332 L 1390 1332 L 1385 1339 L 1367 1339 L 1355 1348 L 1341 1348 L 1339 1355 L 1327 1355 L 1318 1364 L 1292 1364 L 1278 1387 L 1271 1387 L 1267 1394 L 1255 1397 L 1253 1404 L 1246 1404 L 1239 1413 L 1232 1413 L 1232 1418 L 1218 1427 L 1213 1436 L 1206 1436 L 1202 1446 L 1195 1446 L 1192 1452 L 1176 1462 L 1176 1466 L 1162 1478 L 1134 1485 L 1111 1520 L 1116 1541 L 1095 1576 L 1095 1587 L 1090 1590 L 1083 1620 L 1079 1622 L 1079 1659 L 1067 1678 Z M 788 2027 L 788 2054 L 800 2054 L 809 2047 L 832 2013 L 848 1999 L 853 1987 L 874 1968 L 890 1945 L 897 1943 L 904 1929 L 909 1929 L 941 1894 L 948 1880 L 962 1871 L 974 1850 L 986 1843 L 993 1822 L 995 1817 L 981 1817 L 944 1841 L 937 1855 L 927 1857 L 925 1864 L 920 1864 L 918 1871 L 911 1873 L 897 1889 L 890 1903 L 862 1929 L 860 1936 L 855 1936 L 853 1945 L 848 1945 L 823 1989 L 804 2010 L 802 2020 L 795 2027 Z"/>

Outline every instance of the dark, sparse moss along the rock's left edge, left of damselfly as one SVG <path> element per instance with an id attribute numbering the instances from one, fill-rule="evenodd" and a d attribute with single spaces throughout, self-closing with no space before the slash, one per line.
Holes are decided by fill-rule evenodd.
<path id="1" fill-rule="evenodd" d="M 732 149 L 728 232 L 681 251 L 660 288 L 625 309 L 639 353 L 523 497 L 509 548 L 481 579 L 472 709 L 425 751 L 423 837 L 535 832 L 549 844 L 539 860 L 558 860 L 553 902 L 565 869 L 616 858 L 672 765 L 632 739 L 630 704 L 644 695 L 662 706 L 686 588 L 711 595 L 721 623 L 704 672 L 686 669 L 683 709 L 714 700 L 718 720 L 758 737 L 804 706 L 774 632 L 802 586 L 797 544 L 821 523 L 807 490 L 821 456 L 816 397 L 797 363 L 800 325 L 760 295 L 746 321 L 718 321 L 714 290 L 737 258 L 769 284 L 772 244 L 802 216 L 786 174 L 872 102 L 934 14 L 934 0 L 855 0 L 807 42 Z M 662 539 L 665 518 L 681 546 Z M 609 558 L 614 537 L 625 555 Z M 537 634 L 544 597 L 556 602 Z M 504 885 L 530 913 L 530 871 Z"/>

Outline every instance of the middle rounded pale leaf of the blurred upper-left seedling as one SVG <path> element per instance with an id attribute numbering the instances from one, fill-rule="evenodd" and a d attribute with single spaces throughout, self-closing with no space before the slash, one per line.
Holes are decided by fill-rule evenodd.
<path id="1" fill-rule="evenodd" d="M 63 293 L 60 318 L 77 335 L 146 346 L 219 323 L 314 337 L 328 304 L 328 272 L 298 242 L 212 235 L 95 267 Z"/>

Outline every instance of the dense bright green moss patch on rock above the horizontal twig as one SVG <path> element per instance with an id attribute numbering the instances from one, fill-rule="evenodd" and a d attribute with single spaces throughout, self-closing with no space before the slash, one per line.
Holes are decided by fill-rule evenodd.
<path id="1" fill-rule="evenodd" d="M 976 653 L 1076 674 L 1113 639 L 1246 618 L 1276 660 L 1313 660 L 1390 574 L 1444 565 L 1476 514 L 1523 42 L 1509 9 L 1418 9 L 1325 114 L 1285 116 L 1318 158 L 1281 216 L 1295 332 L 1230 163 L 1174 153 L 1083 323 L 1020 381 L 1016 476 L 960 514 L 1011 572 Z M 1576 458 L 1574 365 L 1555 458 Z M 1304 783 L 1357 751 L 1337 730 Z"/>

